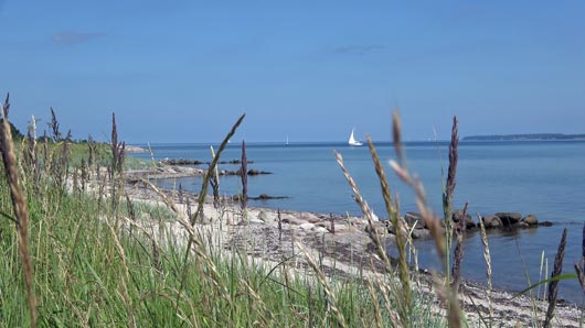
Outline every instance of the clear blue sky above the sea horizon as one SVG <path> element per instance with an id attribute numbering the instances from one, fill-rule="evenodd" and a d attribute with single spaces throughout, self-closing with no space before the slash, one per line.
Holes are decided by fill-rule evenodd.
<path id="1" fill-rule="evenodd" d="M 585 133 L 584 1 L 0 0 L 0 97 L 26 131 L 247 142 Z M 41 133 L 41 131 L 40 131 Z"/>

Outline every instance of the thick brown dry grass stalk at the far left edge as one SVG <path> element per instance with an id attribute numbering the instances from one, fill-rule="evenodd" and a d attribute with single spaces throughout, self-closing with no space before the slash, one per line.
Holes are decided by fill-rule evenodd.
<path id="1" fill-rule="evenodd" d="M 10 108 L 9 96 L 2 106 L 2 133 L 0 141 L 0 149 L 2 151 L 2 161 L 7 174 L 8 184 L 10 186 L 10 198 L 14 208 L 15 226 L 18 232 L 19 254 L 22 260 L 22 271 L 24 272 L 24 283 L 26 285 L 26 294 L 29 302 L 29 310 L 31 316 L 31 327 L 36 327 L 36 297 L 33 287 L 33 265 L 31 255 L 29 253 L 29 211 L 26 209 L 26 200 L 24 194 L 19 186 L 19 176 L 17 168 L 17 156 L 14 154 L 14 143 L 12 141 L 12 133 L 10 131 L 10 123 L 8 122 L 8 113 Z"/>

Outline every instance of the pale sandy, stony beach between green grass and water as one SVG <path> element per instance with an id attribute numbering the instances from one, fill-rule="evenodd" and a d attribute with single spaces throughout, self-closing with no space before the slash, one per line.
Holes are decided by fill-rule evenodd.
<path id="1" fill-rule="evenodd" d="M 169 172 L 171 170 L 172 172 Z M 202 174 L 202 170 L 190 168 L 191 174 Z M 138 175 L 137 175 L 138 174 Z M 173 176 L 173 174 L 176 174 Z M 129 185 L 127 190 L 132 190 L 129 195 L 132 200 L 153 201 L 161 204 L 160 196 L 140 183 L 140 178 L 183 177 L 187 172 L 176 170 L 176 167 L 158 170 L 145 174 L 129 173 Z M 191 175 L 192 176 L 192 175 Z M 142 185 L 141 185 L 142 184 Z M 164 194 L 187 210 L 185 199 L 190 199 L 192 211 L 196 204 L 195 194 L 178 190 L 164 190 Z M 183 201 L 180 198 L 183 198 Z M 245 250 L 248 256 L 263 262 L 278 263 L 285 258 L 294 258 L 302 261 L 295 250 L 295 242 L 304 244 L 311 253 L 322 259 L 323 270 L 330 276 L 343 276 L 355 278 L 358 273 L 368 271 L 371 274 L 381 274 L 381 260 L 373 250 L 372 242 L 366 232 L 366 221 L 355 216 L 331 216 L 329 214 L 318 214 L 308 211 L 280 210 L 280 222 L 278 221 L 278 210 L 264 207 L 247 208 L 247 220 L 242 220 L 240 205 L 233 199 L 224 199 L 223 219 L 212 205 L 212 197 L 205 198 L 203 207 L 203 221 L 196 223 L 199 228 L 208 227 L 208 230 L 215 230 L 221 234 L 216 240 L 222 240 L 219 244 L 222 250 Z M 331 225 L 333 221 L 333 226 Z M 280 228 L 279 228 L 280 227 Z M 217 231 L 217 230 L 220 231 Z M 252 238 L 251 238 L 252 237 Z M 385 233 L 384 245 L 387 248 L 394 243 L 394 236 Z M 374 269 L 370 263 L 376 263 Z M 394 265 L 394 263 L 393 263 Z M 377 269 L 376 269 L 377 267 Z M 432 276 L 428 272 L 411 272 L 419 280 L 419 291 L 425 295 L 436 298 L 433 291 Z M 426 286 L 424 286 L 426 285 Z M 513 292 L 502 288 L 488 291 L 486 284 L 465 280 L 461 282 L 461 304 L 464 310 L 471 322 L 480 322 L 480 316 L 488 317 L 488 295 L 490 295 L 496 318 L 494 322 L 511 325 L 512 322 L 532 324 L 534 308 L 538 308 L 539 317 L 544 316 L 547 303 L 543 300 L 532 300 L 526 296 L 512 298 Z M 436 304 L 438 300 L 435 300 Z M 555 320 L 564 327 L 578 327 L 583 308 L 576 304 L 557 303 Z M 514 324 L 515 325 L 515 324 Z M 511 325 L 510 327 L 514 327 Z"/>

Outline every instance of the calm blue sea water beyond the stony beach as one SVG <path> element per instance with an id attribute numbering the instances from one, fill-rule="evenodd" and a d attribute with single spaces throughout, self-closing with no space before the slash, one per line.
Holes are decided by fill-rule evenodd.
<path id="1" fill-rule="evenodd" d="M 155 144 L 152 150 L 157 160 L 211 160 L 209 145 Z M 290 197 L 251 201 L 251 205 L 359 215 L 360 209 L 352 200 L 351 189 L 336 162 L 336 150 L 343 155 L 348 170 L 370 206 L 384 217 L 380 184 L 368 147 L 350 147 L 344 143 L 247 145 L 247 158 L 254 161 L 248 168 L 274 173 L 248 177 L 248 195 Z M 413 193 L 387 165 L 387 160 L 395 157 L 392 144 L 377 144 L 377 151 L 386 165 L 390 186 L 393 193 L 400 195 L 402 212 L 416 211 Z M 407 143 L 405 151 L 408 167 L 423 181 L 430 206 L 436 212 L 443 212 L 442 168 L 446 172 L 448 166 L 447 144 Z M 150 157 L 149 154 L 134 156 Z M 224 161 L 240 157 L 241 149 L 235 145 L 230 145 L 222 154 Z M 225 165 L 222 168 L 237 170 L 237 166 Z M 201 189 L 201 178 L 159 182 L 167 187 L 173 187 L 176 183 L 181 183 L 188 190 Z M 221 187 L 226 194 L 237 193 L 241 190 L 240 177 L 222 177 Z M 568 229 L 564 272 L 574 273 L 573 264 L 581 259 L 585 221 L 585 141 L 460 142 L 454 205 L 462 208 L 466 201 L 469 201 L 470 214 L 520 211 L 555 223 L 551 228 L 490 234 L 496 286 L 523 289 L 528 286 L 526 271 L 531 282 L 538 282 L 543 251 L 552 270 L 564 228 Z M 417 249 L 422 266 L 436 265 L 433 242 L 418 242 Z M 483 263 L 479 233 L 470 233 L 465 241 L 464 276 L 485 282 Z M 584 299 L 576 281 L 562 282 L 560 297 L 578 304 L 583 304 Z"/>

